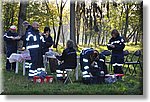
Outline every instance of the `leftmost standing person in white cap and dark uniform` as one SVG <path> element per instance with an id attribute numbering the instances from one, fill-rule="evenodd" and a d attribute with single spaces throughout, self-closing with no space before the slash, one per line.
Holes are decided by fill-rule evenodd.
<path id="1" fill-rule="evenodd" d="M 6 62 L 6 70 L 15 71 L 16 63 L 9 62 L 8 58 L 12 53 L 17 53 L 17 42 L 20 40 L 20 36 L 16 33 L 16 26 L 12 25 L 10 26 L 10 29 L 4 34 L 3 38 L 6 42 L 6 56 L 7 56 L 7 62 Z"/>

